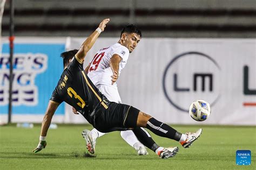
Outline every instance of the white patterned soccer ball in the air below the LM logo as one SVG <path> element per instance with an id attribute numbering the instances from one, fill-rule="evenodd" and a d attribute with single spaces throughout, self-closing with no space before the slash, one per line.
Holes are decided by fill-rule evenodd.
<path id="1" fill-rule="evenodd" d="M 204 100 L 196 100 L 190 104 L 189 113 L 195 121 L 205 121 L 211 115 L 210 104 Z"/>

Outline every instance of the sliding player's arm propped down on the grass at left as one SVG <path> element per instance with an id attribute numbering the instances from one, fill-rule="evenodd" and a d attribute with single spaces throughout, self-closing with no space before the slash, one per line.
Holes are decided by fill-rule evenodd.
<path id="1" fill-rule="evenodd" d="M 41 126 L 41 135 L 39 137 L 39 144 L 35 148 L 35 150 L 33 150 L 33 152 L 37 153 L 37 152 L 41 151 L 43 148 L 45 148 L 45 146 L 46 146 L 46 140 L 45 140 L 46 134 L 47 134 L 47 131 L 48 131 L 49 126 L 51 124 L 52 116 L 54 115 L 57 108 L 58 108 L 58 104 L 49 102 L 48 108 L 45 112 L 44 119 L 43 119 L 42 126 Z"/>

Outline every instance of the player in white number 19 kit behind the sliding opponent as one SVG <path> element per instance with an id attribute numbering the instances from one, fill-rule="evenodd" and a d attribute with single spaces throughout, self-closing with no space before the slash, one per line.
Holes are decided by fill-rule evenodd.
<path id="1" fill-rule="evenodd" d="M 116 81 L 127 63 L 129 54 L 137 47 L 141 38 L 142 33 L 136 25 L 126 25 L 121 32 L 119 41 L 110 47 L 100 49 L 85 69 L 93 84 L 111 102 L 122 103 Z M 96 129 L 83 131 L 89 152 L 95 152 L 96 139 L 104 134 L 106 133 L 99 132 Z M 120 134 L 129 145 L 135 148 L 139 155 L 148 154 L 145 146 L 140 143 L 131 130 L 121 131 Z M 147 135 L 150 134 L 147 133 Z M 89 136 L 92 141 L 88 139 Z"/>

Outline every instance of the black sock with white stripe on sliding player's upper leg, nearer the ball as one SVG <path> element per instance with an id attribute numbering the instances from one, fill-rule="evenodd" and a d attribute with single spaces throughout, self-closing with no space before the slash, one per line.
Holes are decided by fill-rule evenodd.
<path id="1" fill-rule="evenodd" d="M 181 137 L 181 133 L 177 132 L 177 130 L 173 129 L 171 126 L 159 122 L 153 117 L 147 121 L 147 129 L 152 131 L 154 134 L 157 134 L 158 136 L 174 139 L 179 141 Z"/>

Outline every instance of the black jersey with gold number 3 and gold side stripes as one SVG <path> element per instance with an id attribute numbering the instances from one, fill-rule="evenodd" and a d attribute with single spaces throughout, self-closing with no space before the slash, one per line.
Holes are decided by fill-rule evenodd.
<path id="1" fill-rule="evenodd" d="M 63 101 L 80 112 L 91 124 L 94 124 L 90 117 L 95 114 L 95 110 L 104 111 L 110 103 L 87 77 L 83 61 L 76 56 L 63 71 L 50 98 L 50 102 L 57 104 Z"/>

